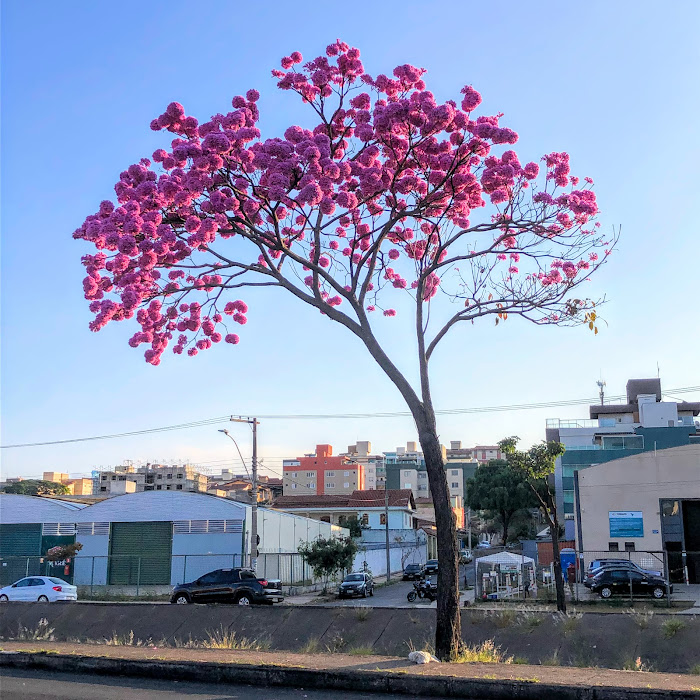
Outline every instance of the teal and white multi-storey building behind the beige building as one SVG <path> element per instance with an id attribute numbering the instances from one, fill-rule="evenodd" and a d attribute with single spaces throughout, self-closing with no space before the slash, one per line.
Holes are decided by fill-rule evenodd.
<path id="1" fill-rule="evenodd" d="M 597 464 L 697 443 L 700 429 L 695 416 L 700 402 L 663 401 L 661 380 L 630 379 L 626 403 L 589 407 L 589 419 L 547 420 L 547 440 L 566 447 L 557 459 L 557 509 L 563 516 L 565 538 L 575 537 L 574 474 Z"/>

